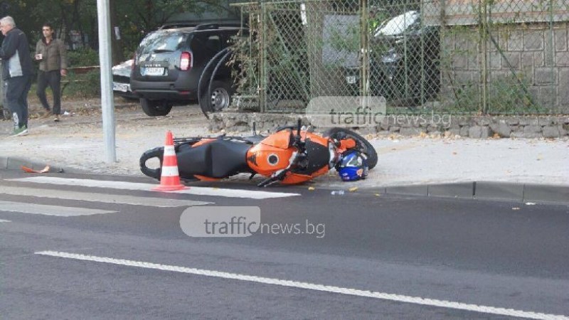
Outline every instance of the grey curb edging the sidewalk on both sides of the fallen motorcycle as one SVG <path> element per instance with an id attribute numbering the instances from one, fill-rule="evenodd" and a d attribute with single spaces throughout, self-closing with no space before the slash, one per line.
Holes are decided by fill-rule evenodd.
<path id="1" fill-rule="evenodd" d="M 41 170 L 46 163 L 18 157 L 0 156 L 0 169 L 21 170 L 27 166 Z M 85 174 L 80 169 L 63 169 L 50 166 L 49 173 Z M 536 183 L 511 183 L 496 181 L 473 181 L 460 183 L 420 184 L 371 188 L 379 193 L 398 196 L 424 196 L 438 198 L 479 199 L 490 201 L 516 201 L 569 204 L 569 186 Z"/>

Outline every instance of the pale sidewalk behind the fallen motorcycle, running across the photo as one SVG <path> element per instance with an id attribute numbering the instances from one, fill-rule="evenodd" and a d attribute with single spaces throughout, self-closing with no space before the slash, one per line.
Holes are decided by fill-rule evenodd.
<path id="1" fill-rule="evenodd" d="M 100 110 L 96 106 L 92 109 L 89 106 L 65 109 L 64 106 L 64 110 L 72 115 L 63 116 L 59 123 L 52 119 L 31 119 L 30 134 L 26 137 L 8 137 L 11 122 L 0 122 L 0 169 L 8 165 L 17 169 L 21 160 L 25 160 L 41 168 L 49 164 L 66 171 L 79 169 L 97 174 L 142 176 L 140 155 L 147 149 L 163 145 L 167 129 L 174 137 L 215 134 L 207 132 L 206 119 L 196 106 L 175 107 L 167 117 L 150 118 L 136 103 L 123 103 L 115 113 L 118 162 L 106 164 Z M 309 186 L 358 187 L 381 193 L 425 196 L 454 194 L 466 198 L 489 193 L 489 198 L 523 201 L 528 199 L 528 190 L 545 185 L 553 186 L 555 191 L 540 192 L 558 193 L 558 196 L 553 199 L 545 196 L 543 200 L 569 202 L 567 138 L 479 140 L 368 136 L 368 139 L 379 156 L 378 165 L 368 179 L 343 183 L 335 171 L 331 171 Z M 245 176 L 236 178 L 247 179 Z M 449 186 L 449 183 L 458 184 Z M 441 188 L 445 190 L 442 193 Z"/>

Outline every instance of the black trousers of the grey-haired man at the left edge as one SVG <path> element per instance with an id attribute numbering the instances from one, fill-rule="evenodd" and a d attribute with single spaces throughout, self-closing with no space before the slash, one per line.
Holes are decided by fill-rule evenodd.
<path id="1" fill-rule="evenodd" d="M 6 80 L 6 103 L 12 112 L 14 126 L 28 126 L 28 92 L 30 92 L 31 77 L 9 78 Z"/>

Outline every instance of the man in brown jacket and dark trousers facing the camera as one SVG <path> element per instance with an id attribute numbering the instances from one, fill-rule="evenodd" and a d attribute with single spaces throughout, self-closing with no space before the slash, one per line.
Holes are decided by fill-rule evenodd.
<path id="1" fill-rule="evenodd" d="M 43 37 L 36 44 L 36 60 L 40 62 L 37 94 L 46 110 L 44 117 L 55 114 L 53 120 L 57 122 L 61 113 L 61 76 L 67 75 L 67 50 L 63 41 L 53 38 L 53 27 L 50 23 L 44 23 L 41 32 Z M 53 93 L 53 112 L 50 111 L 46 97 L 48 85 Z"/>

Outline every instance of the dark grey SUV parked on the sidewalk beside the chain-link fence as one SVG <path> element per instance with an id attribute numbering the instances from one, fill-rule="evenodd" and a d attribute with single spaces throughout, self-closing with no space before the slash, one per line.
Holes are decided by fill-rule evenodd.
<path id="1" fill-rule="evenodd" d="M 137 49 L 130 75 L 131 90 L 140 97 L 142 110 L 151 117 L 162 116 L 173 105 L 196 101 L 203 69 L 216 53 L 230 46 L 239 30 L 207 24 L 149 33 Z M 214 110 L 222 110 L 230 105 L 232 94 L 230 69 L 224 65 L 213 78 L 210 92 L 201 99 L 210 99 Z"/>

